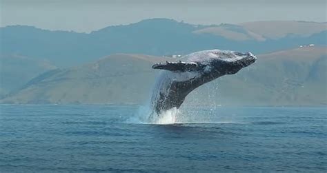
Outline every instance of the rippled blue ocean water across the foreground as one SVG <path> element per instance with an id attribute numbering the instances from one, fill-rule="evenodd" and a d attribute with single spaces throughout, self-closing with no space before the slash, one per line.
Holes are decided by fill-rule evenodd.
<path id="1" fill-rule="evenodd" d="M 0 172 L 326 172 L 327 108 L 1 105 Z M 168 124 L 167 124 L 168 123 Z"/>

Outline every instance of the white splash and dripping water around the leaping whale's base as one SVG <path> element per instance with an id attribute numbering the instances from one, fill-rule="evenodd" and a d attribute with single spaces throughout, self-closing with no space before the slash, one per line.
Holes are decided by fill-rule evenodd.
<path id="1" fill-rule="evenodd" d="M 205 91 L 208 93 L 203 94 L 199 92 L 199 89 L 195 90 L 193 94 L 197 96 L 208 95 L 206 96 L 206 100 L 211 103 L 210 109 L 206 111 L 206 117 L 204 118 L 204 112 L 201 110 L 193 110 L 189 111 L 189 108 L 194 107 L 194 105 L 201 105 L 201 101 L 199 99 L 188 99 L 184 105 L 181 106 L 181 109 L 172 108 L 170 110 L 166 110 L 157 114 L 155 112 L 154 105 L 157 102 L 159 97 L 159 92 L 169 92 L 170 83 L 161 83 L 162 79 L 157 81 L 156 85 L 152 88 L 152 93 L 150 96 L 150 100 L 145 105 L 141 105 L 139 107 L 139 111 L 135 116 L 128 119 L 127 123 L 144 123 L 144 124 L 176 124 L 176 123 L 210 123 L 210 116 L 217 116 L 215 113 L 217 109 L 217 105 L 215 103 L 215 98 L 217 97 L 217 83 L 214 81 L 212 85 L 204 85 L 201 88 L 205 88 Z M 161 85 L 166 85 L 165 87 L 161 87 Z M 166 88 L 166 91 L 160 91 L 160 88 Z M 215 88 L 215 90 L 212 90 Z M 192 95 L 193 95 L 192 94 Z M 188 107 L 188 105 L 191 105 Z M 201 112 L 201 113 L 199 113 Z M 201 115 L 199 115 L 201 114 Z"/>

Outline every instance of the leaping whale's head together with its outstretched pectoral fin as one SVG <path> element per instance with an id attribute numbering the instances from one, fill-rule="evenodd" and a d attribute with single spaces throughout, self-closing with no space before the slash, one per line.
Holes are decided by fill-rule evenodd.
<path id="1" fill-rule="evenodd" d="M 225 74 L 235 74 L 254 63 L 257 57 L 251 52 L 241 53 L 230 50 L 203 50 L 188 54 L 179 62 L 156 63 L 154 69 L 172 72 L 199 72 L 217 78 Z"/>

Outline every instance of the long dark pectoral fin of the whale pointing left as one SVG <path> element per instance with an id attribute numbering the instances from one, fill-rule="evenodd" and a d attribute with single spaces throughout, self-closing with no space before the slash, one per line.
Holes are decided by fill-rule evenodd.
<path id="1" fill-rule="evenodd" d="M 166 63 L 156 63 L 152 65 L 153 69 L 162 69 L 162 70 L 169 70 L 172 72 L 187 72 L 187 71 L 197 71 L 200 69 L 200 65 L 198 63 L 192 62 L 168 62 Z"/>

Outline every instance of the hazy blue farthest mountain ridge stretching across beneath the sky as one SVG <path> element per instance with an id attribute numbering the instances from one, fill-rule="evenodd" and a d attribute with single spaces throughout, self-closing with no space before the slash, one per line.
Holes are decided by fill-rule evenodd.
<path id="1" fill-rule="evenodd" d="M 86 33 L 41 30 L 31 26 L 0 28 L 0 54 L 48 59 L 63 68 L 96 61 L 108 54 L 188 54 L 219 48 L 264 54 L 326 45 L 326 23 L 264 21 L 197 26 L 172 19 L 147 19 Z"/>

